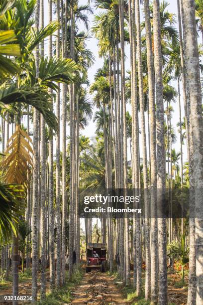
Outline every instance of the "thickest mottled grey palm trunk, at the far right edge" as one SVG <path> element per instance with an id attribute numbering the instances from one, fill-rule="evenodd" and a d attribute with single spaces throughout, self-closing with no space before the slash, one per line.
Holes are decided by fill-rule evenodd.
<path id="1" fill-rule="evenodd" d="M 193 136 L 194 166 L 192 175 L 195 186 L 195 247 L 196 247 L 196 303 L 203 304 L 203 117 L 200 83 L 199 51 L 196 32 L 195 2 L 183 0 L 185 20 L 186 67 L 190 90 L 190 128 Z"/>

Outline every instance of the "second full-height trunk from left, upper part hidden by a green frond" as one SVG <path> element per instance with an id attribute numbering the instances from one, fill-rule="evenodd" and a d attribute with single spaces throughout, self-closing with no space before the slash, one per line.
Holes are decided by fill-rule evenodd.
<path id="1" fill-rule="evenodd" d="M 40 28 L 44 27 L 44 0 L 40 0 Z M 41 57 L 44 56 L 44 41 L 41 42 Z M 46 206 L 45 206 L 45 166 L 46 166 L 46 145 L 45 145 L 45 121 L 43 116 L 40 116 L 40 243 L 41 243 L 41 293 L 40 300 L 45 299 L 46 295 Z"/>

